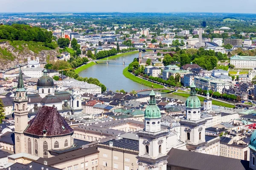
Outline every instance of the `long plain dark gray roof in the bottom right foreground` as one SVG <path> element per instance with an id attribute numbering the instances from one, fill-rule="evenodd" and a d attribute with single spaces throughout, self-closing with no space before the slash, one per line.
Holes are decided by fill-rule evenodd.
<path id="1" fill-rule="evenodd" d="M 172 148 L 167 165 L 187 170 L 247 170 L 249 161 Z M 171 168 L 172 169 L 172 168 Z"/>

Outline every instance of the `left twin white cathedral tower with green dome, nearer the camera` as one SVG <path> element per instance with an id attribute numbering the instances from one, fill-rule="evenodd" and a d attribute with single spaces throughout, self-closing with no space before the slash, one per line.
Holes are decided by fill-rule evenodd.
<path id="1" fill-rule="evenodd" d="M 166 170 L 168 131 L 167 129 L 161 130 L 161 113 L 156 105 L 153 89 L 144 118 L 145 129 L 137 133 L 139 136 L 139 156 L 137 157 L 139 170 Z"/>

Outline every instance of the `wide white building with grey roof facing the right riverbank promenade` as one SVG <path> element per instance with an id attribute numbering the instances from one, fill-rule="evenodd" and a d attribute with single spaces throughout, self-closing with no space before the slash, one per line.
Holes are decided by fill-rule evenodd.
<path id="1" fill-rule="evenodd" d="M 230 83 L 222 80 L 215 79 L 213 77 L 195 77 L 195 86 L 203 90 L 212 90 L 222 93 L 223 88 L 229 89 Z"/>

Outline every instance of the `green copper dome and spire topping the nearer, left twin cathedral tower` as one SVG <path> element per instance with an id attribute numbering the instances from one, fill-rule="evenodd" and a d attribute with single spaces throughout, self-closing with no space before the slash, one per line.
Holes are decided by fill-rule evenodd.
<path id="1" fill-rule="evenodd" d="M 158 108 L 158 106 L 156 105 L 157 101 L 155 99 L 155 94 L 153 89 L 149 95 L 150 95 L 150 100 L 148 101 L 149 105 L 145 110 L 144 117 L 148 119 L 161 118 L 160 108 Z"/>

